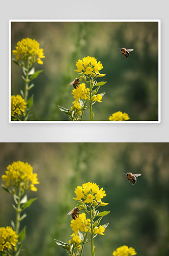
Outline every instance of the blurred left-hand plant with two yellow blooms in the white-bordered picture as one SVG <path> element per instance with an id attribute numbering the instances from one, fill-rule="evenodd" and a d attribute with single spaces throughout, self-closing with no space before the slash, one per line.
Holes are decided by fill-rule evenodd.
<path id="1" fill-rule="evenodd" d="M 13 50 L 13 55 L 16 59 L 12 59 L 16 65 L 22 68 L 24 80 L 24 92 L 20 90 L 21 95 L 11 96 L 11 120 L 26 121 L 30 114 L 30 109 L 33 105 L 33 95 L 28 99 L 28 93 L 34 87 L 32 83 L 43 70 L 35 72 L 35 64 L 43 64 L 41 58 L 45 58 L 43 49 L 40 49 L 40 44 L 35 39 L 23 38 L 17 42 L 16 50 Z M 29 86 L 29 83 L 32 83 Z M 24 105 L 24 106 L 23 106 Z"/>

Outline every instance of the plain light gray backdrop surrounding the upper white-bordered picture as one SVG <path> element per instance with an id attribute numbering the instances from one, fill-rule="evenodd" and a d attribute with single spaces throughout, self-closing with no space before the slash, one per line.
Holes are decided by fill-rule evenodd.
<path id="1" fill-rule="evenodd" d="M 168 1 L 1 1 L 1 142 L 167 142 Z M 160 19 L 161 123 L 9 123 L 9 19 Z M 139 32 L 138 32 L 139 33 Z"/>

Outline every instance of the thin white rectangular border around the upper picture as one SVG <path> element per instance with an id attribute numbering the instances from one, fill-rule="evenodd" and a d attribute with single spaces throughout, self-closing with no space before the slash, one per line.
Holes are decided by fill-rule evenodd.
<path id="1" fill-rule="evenodd" d="M 158 121 L 11 121 L 12 22 L 158 22 Z M 161 20 L 160 19 L 10 19 L 9 20 L 9 123 L 160 123 L 161 122 Z"/>

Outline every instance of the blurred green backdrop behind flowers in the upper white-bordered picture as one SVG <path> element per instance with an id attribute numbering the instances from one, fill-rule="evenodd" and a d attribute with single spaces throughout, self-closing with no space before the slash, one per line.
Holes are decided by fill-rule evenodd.
<path id="1" fill-rule="evenodd" d="M 108 120 L 126 112 L 131 121 L 158 120 L 157 22 L 12 22 L 12 50 L 22 38 L 36 39 L 44 49 L 44 71 L 34 80 L 29 120 L 70 120 L 58 105 L 70 109 L 74 101 L 69 85 L 77 77 L 76 61 L 93 56 L 103 65 L 107 83 L 102 103 L 93 106 L 94 120 Z M 126 59 L 118 48 L 134 49 Z M 15 57 L 12 54 L 12 57 Z M 22 69 L 12 61 L 12 95 L 24 89 Z M 88 104 L 89 105 L 89 104 Z M 90 120 L 89 109 L 83 120 Z"/>

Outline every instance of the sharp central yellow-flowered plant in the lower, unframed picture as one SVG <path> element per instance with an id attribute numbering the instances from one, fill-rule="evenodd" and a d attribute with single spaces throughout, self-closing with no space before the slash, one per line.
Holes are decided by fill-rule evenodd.
<path id="1" fill-rule="evenodd" d="M 109 211 L 99 212 L 98 208 L 100 206 L 105 206 L 108 203 L 101 201 L 103 197 L 106 196 L 103 188 L 99 189 L 99 186 L 96 183 L 84 183 L 82 186 L 77 186 L 75 189 L 76 198 L 78 200 L 78 209 L 85 211 L 89 218 L 86 217 L 86 214 L 82 212 L 77 218 L 75 217 L 70 226 L 74 231 L 72 235 L 74 238 L 77 238 L 78 245 L 75 248 L 72 243 L 66 244 L 61 241 L 54 239 L 54 241 L 61 245 L 64 249 L 67 250 L 68 254 L 71 256 L 82 255 L 83 247 L 86 243 L 91 242 L 91 254 L 95 255 L 95 246 L 94 238 L 98 235 L 104 235 L 105 228 L 108 226 L 108 223 L 100 225 L 100 221 L 103 216 L 109 214 Z M 88 234 L 90 233 L 90 240 L 87 239 Z M 77 249 L 78 248 L 78 249 Z"/>

